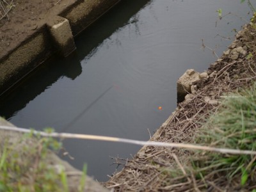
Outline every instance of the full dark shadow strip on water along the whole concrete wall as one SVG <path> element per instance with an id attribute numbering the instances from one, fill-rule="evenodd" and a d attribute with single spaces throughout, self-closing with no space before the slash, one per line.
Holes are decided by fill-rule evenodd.
<path id="1" fill-rule="evenodd" d="M 67 58 L 52 57 L 36 68 L 19 85 L 0 98 L 0 116 L 7 120 L 24 108 L 36 96 L 43 93 L 61 77 L 76 79 L 82 73 L 81 60 L 90 57 L 90 52 L 111 36 L 118 28 L 125 26 L 132 15 L 136 14 L 150 0 L 122 0 L 102 18 L 89 26 L 76 37 L 77 49 Z M 122 10 L 122 11 L 121 11 Z M 84 42 L 86 42 L 84 44 Z M 3 110 L 4 109 L 4 110 Z M 3 113 L 4 111 L 4 113 Z"/>

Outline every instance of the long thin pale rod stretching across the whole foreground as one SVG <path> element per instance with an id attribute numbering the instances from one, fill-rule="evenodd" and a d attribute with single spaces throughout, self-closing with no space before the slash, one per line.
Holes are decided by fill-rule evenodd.
<path id="1" fill-rule="evenodd" d="M 17 132 L 26 132 L 29 133 L 31 130 L 24 129 L 20 127 L 11 127 L 11 126 L 3 126 L 0 125 L 0 129 L 7 131 L 17 131 Z M 256 155 L 256 151 L 254 150 L 239 150 L 239 149 L 231 149 L 231 148 L 215 148 L 208 147 L 202 145 L 193 145 L 186 143 L 166 143 L 166 142 L 157 142 L 157 141 L 138 141 L 138 140 L 129 140 L 124 138 L 115 138 L 108 136 L 97 136 L 92 134 L 72 134 L 67 132 L 42 132 L 42 131 L 33 131 L 32 133 L 35 135 L 40 135 L 44 137 L 53 137 L 53 138 L 73 138 L 73 139 L 81 139 L 81 140 L 98 140 L 98 141 L 112 141 L 112 142 L 120 142 L 120 143 L 131 143 L 134 145 L 141 146 L 160 146 L 160 147 L 173 147 L 173 148 L 186 148 L 191 150 L 205 150 L 211 152 L 219 152 L 221 154 L 244 154 L 244 155 Z"/>

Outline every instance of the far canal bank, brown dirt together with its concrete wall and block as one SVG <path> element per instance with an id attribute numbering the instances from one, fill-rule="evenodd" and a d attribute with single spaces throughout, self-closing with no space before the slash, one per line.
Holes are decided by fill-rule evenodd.
<path id="1" fill-rule="evenodd" d="M 13 19 L 4 17 L 0 23 L 0 95 L 53 54 L 67 56 L 74 51 L 74 36 L 118 1 L 15 3 L 9 13 Z"/>

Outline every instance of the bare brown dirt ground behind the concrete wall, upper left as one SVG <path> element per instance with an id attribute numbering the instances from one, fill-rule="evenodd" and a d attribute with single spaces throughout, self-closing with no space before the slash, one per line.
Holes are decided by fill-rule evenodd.
<path id="1" fill-rule="evenodd" d="M 0 60 L 26 40 L 52 15 L 58 15 L 77 0 L 1 0 Z M 4 3 L 6 2 L 6 3 Z M 10 8 L 10 12 L 8 9 Z M 6 17 L 3 17 L 8 12 Z"/>

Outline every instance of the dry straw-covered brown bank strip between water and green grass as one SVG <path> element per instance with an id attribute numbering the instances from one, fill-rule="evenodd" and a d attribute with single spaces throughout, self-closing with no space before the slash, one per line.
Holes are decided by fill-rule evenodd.
<path id="1" fill-rule="evenodd" d="M 229 51 L 207 70 L 209 77 L 195 84 L 196 93 L 178 105 L 151 138 L 152 141 L 194 143 L 195 133 L 220 106 L 220 103 L 209 104 L 205 97 L 219 100 L 223 93 L 249 86 L 255 81 L 255 34 L 255 26 L 250 24 L 237 33 Z M 237 47 L 243 47 L 246 52 L 237 54 Z M 250 53 L 252 58 L 248 59 Z M 255 177 L 241 188 L 240 178 L 230 181 L 226 175 L 217 173 L 205 180 L 195 178 L 193 173 L 179 177 L 173 175 L 170 170 L 186 166 L 191 154 L 193 152 L 178 148 L 143 147 L 131 160 L 116 158 L 116 164 L 124 164 L 124 169 L 112 175 L 104 186 L 114 191 L 252 191 L 256 188 Z"/>

